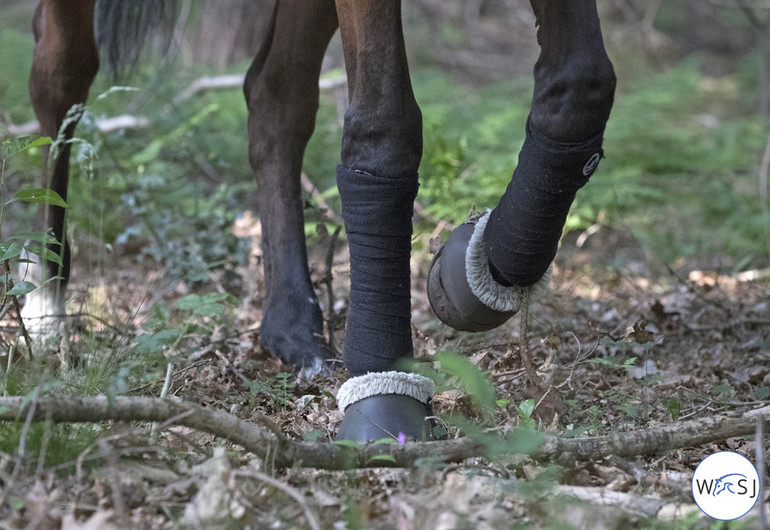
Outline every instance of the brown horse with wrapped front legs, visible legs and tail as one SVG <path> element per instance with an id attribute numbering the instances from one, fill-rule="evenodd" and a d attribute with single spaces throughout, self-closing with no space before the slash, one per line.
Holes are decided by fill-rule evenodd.
<path id="1" fill-rule="evenodd" d="M 604 156 L 614 99 L 616 78 L 595 2 L 530 2 L 540 56 L 519 163 L 495 208 L 454 230 L 429 272 L 432 307 L 452 327 L 492 329 L 547 287 L 570 205 Z M 243 86 L 263 234 L 260 341 L 309 374 L 321 371 L 329 356 L 307 265 L 300 171 L 318 108 L 321 62 L 339 29 L 349 87 L 337 184 L 350 249 L 344 363 L 351 377 L 337 396 L 343 412 L 337 436 L 428 439 L 432 381 L 399 368 L 413 355 L 409 258 L 422 155 L 401 2 L 274 0 L 267 7 L 269 24 Z M 136 60 L 152 23 L 173 20 L 174 13 L 171 0 L 40 0 L 30 97 L 42 134 L 64 142 L 45 155 L 55 156 L 45 178 L 63 198 L 67 140 L 76 123 L 65 117 L 88 97 L 99 70 L 97 41 L 119 68 Z M 62 312 L 69 277 L 64 209 L 47 208 L 45 228 L 61 244 L 63 265 L 42 264 L 58 283 L 27 300 L 30 320 Z"/>

